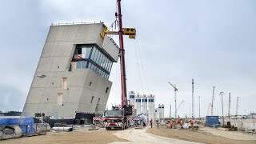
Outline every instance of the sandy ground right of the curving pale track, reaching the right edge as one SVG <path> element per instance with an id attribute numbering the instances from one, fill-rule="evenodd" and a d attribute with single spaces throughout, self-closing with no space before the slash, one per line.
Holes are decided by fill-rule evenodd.
<path id="1" fill-rule="evenodd" d="M 219 144 L 255 144 L 256 135 L 243 134 L 238 131 L 223 131 L 214 128 L 201 128 L 200 130 L 169 129 L 167 126 L 153 127 L 146 132 L 167 138 L 178 138 L 190 142 L 219 143 Z"/>

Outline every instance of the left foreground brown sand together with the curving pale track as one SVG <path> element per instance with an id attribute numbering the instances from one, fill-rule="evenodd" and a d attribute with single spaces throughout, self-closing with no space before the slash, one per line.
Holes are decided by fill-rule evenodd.
<path id="1" fill-rule="evenodd" d="M 142 130 L 129 128 L 127 130 L 105 130 L 99 129 L 89 131 L 86 128 L 80 128 L 73 132 L 48 132 L 46 135 L 34 136 L 28 138 L 14 138 L 0 141 L 5 144 L 16 143 L 174 143 L 174 144 L 196 144 L 197 142 L 187 142 L 180 139 L 165 138 L 154 134 L 146 133 L 146 127 Z"/>

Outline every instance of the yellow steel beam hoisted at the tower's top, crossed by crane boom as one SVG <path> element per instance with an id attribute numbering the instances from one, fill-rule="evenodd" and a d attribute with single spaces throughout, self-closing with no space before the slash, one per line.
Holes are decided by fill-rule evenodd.
<path id="1" fill-rule="evenodd" d="M 122 28 L 122 33 L 124 35 L 129 35 L 129 38 L 135 39 L 136 29 L 135 28 Z M 104 25 L 104 30 L 102 31 L 102 38 L 104 38 L 106 34 L 119 34 L 119 32 L 118 31 L 109 31 L 109 30 L 107 30 L 107 27 Z"/>

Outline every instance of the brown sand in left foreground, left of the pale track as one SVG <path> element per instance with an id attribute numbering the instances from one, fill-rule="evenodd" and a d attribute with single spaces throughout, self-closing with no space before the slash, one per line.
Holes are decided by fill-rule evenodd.
<path id="1" fill-rule="evenodd" d="M 117 130 L 88 130 L 88 128 L 80 128 L 72 132 L 48 132 L 45 135 L 14 138 L 0 141 L 5 144 L 17 143 L 110 143 L 110 142 L 126 142 L 125 139 L 116 137 L 113 133 Z"/>

